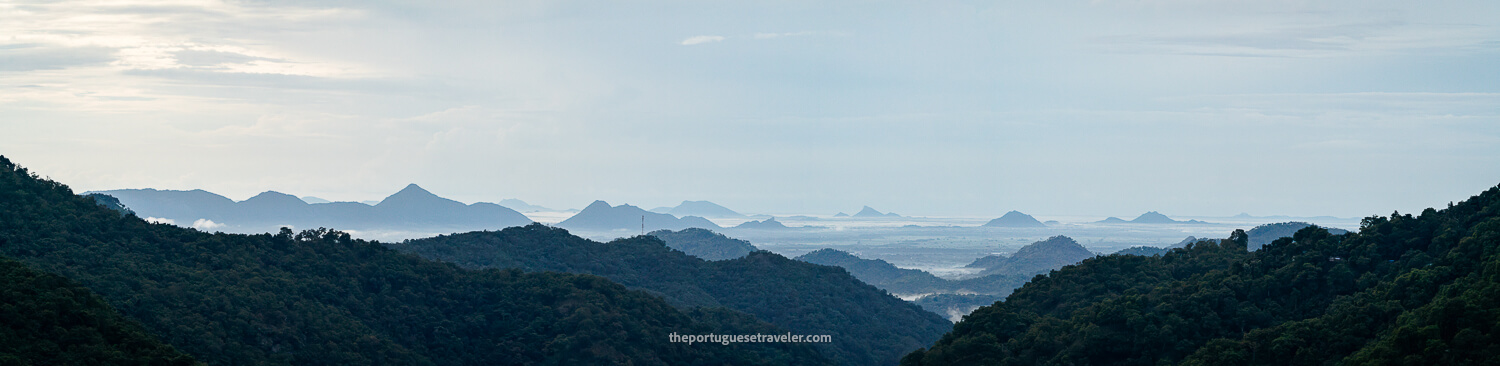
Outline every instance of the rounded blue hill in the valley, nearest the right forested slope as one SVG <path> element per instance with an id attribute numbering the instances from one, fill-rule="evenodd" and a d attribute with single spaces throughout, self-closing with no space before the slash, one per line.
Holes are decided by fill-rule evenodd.
<path id="1" fill-rule="evenodd" d="M 1056 236 L 1023 246 L 1010 256 L 990 255 L 970 262 L 969 268 L 984 268 L 980 274 L 1030 276 L 1092 258 L 1094 252 L 1071 237 Z"/>

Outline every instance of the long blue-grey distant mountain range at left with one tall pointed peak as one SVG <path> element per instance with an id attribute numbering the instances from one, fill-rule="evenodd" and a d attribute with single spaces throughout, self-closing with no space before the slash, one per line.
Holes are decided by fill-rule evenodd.
<path id="1" fill-rule="evenodd" d="M 531 224 L 525 214 L 492 202 L 464 204 L 417 184 L 408 184 L 375 206 L 362 202 L 309 204 L 294 195 L 267 190 L 234 200 L 202 189 L 116 189 L 110 195 L 141 218 L 195 226 L 204 231 L 273 232 L 280 226 L 344 230 L 472 231 Z"/>

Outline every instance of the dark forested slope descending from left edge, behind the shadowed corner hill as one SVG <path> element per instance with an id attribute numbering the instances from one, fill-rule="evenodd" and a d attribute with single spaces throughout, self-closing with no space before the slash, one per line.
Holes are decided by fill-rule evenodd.
<path id="1" fill-rule="evenodd" d="M 147 224 L 4 158 L 0 252 L 76 280 L 208 364 L 826 362 L 806 344 L 670 344 L 674 332 L 784 330 L 723 309 L 682 312 L 597 276 L 462 270 L 328 230 Z"/>

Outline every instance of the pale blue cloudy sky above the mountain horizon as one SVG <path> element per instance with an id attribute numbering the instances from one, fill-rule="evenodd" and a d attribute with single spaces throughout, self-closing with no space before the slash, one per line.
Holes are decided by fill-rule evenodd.
<path id="1" fill-rule="evenodd" d="M 75 190 L 1332 214 L 1500 183 L 1500 2 L 8 2 Z"/>

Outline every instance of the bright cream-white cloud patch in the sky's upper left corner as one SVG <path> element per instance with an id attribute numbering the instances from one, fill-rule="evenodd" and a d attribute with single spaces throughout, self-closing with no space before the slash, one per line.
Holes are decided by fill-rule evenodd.
<path id="1" fill-rule="evenodd" d="M 248 30 L 309 28 L 363 16 L 350 9 L 192 2 L 176 6 L 57 2 L 0 15 L 0 48 L 9 70 L 105 68 L 110 70 L 204 68 L 216 72 L 346 76 L 357 64 L 309 60 Z M 224 36 L 234 34 L 234 36 Z M 3 45 L 9 44 L 9 45 Z"/>

